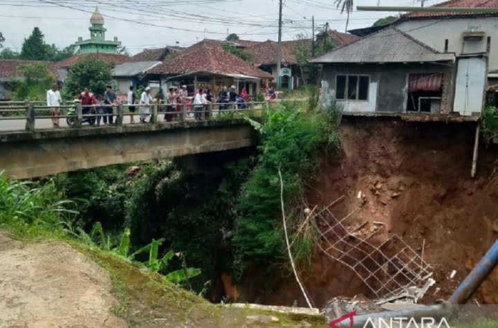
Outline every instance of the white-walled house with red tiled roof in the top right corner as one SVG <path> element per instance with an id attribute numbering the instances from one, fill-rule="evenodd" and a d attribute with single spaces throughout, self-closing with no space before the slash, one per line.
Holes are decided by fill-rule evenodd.
<path id="1" fill-rule="evenodd" d="M 452 12 L 451 8 L 498 8 L 498 0 L 450 0 L 434 5 L 448 12 L 411 12 L 394 22 L 399 30 L 437 51 L 457 56 L 489 50 L 488 79 L 498 81 L 498 12 Z"/>

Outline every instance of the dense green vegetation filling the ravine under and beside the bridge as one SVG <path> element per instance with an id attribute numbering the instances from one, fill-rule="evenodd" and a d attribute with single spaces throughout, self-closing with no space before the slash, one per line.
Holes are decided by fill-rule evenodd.
<path id="1" fill-rule="evenodd" d="M 204 155 L 199 163 L 208 170 L 200 171 L 190 170 L 183 161 L 165 160 L 59 174 L 39 183 L 50 192 L 50 197 L 40 196 L 39 201 L 57 204 L 58 199 L 73 199 L 59 205 L 71 205 L 68 209 L 77 208 L 80 214 L 57 210 L 55 216 L 40 220 L 106 250 L 122 244 L 123 231 L 125 235 L 128 231 L 129 254 L 149 246 L 151 239 L 160 241 L 154 244 L 156 261 L 148 266 L 167 256 L 163 273 L 184 270 L 187 265 L 201 268 L 201 274 L 190 281 L 192 289 L 201 291 L 206 282 L 219 281 L 221 273 L 241 277 L 247 262 L 268 268 L 286 262 L 280 170 L 293 254 L 304 263 L 311 255 L 315 227 L 306 225 L 295 233 L 304 219 L 300 200 L 320 149 L 339 147 L 340 113 L 335 108 L 315 110 L 315 100 L 306 109 L 285 102 L 276 109 L 268 107 L 262 124 L 253 122 L 261 140 L 257 157 L 239 153 L 220 160 L 220 154 Z M 19 185 L 26 192 L 37 190 L 31 188 L 34 185 Z M 15 210 L 0 207 L 1 211 L 3 223 L 8 223 L 6 218 L 17 220 Z M 43 216 L 41 212 L 30 215 L 32 221 Z M 170 250 L 181 252 L 181 257 L 170 258 Z M 135 259 L 144 262 L 146 253 Z"/>

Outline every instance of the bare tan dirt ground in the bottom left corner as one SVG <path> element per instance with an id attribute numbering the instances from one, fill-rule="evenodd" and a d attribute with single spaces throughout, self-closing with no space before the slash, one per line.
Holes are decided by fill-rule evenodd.
<path id="1" fill-rule="evenodd" d="M 26 244 L 0 230 L 0 327 L 128 327 L 109 274 L 61 242 Z"/>

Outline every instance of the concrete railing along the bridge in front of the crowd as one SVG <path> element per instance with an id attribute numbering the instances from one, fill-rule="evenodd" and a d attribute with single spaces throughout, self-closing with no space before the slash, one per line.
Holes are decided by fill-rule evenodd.
<path id="1" fill-rule="evenodd" d="M 142 123 L 173 123 L 194 120 L 223 120 L 233 118 L 236 113 L 253 115 L 264 109 L 267 102 L 223 102 L 208 104 L 104 104 L 86 105 L 65 103 L 59 107 L 48 107 L 46 102 L 0 102 L 0 132 L 33 131 L 53 126 L 50 120 L 59 120 L 59 127 L 80 128 L 84 125 L 96 127 L 106 120 L 113 125 Z M 53 112 L 57 109 L 57 115 Z M 144 121 L 140 120 L 143 118 Z M 23 122 L 24 121 L 24 122 Z"/>

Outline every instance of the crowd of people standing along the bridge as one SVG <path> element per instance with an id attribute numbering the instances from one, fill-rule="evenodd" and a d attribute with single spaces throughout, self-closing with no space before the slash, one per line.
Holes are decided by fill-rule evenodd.
<path id="1" fill-rule="evenodd" d="M 218 104 L 220 110 L 246 109 L 249 100 L 246 88 L 243 88 L 240 93 L 237 93 L 236 90 L 234 85 L 230 89 L 227 86 L 221 86 L 216 99 L 214 99 L 211 89 L 199 89 L 195 92 L 194 97 L 189 97 L 186 85 L 181 86 L 181 89 L 170 86 L 163 101 L 159 94 L 155 98 L 152 97 L 149 86 L 142 91 L 140 98 L 137 97 L 133 86 L 130 86 L 125 104 L 130 113 L 130 123 L 135 123 L 134 116 L 137 108 L 140 123 L 147 122 L 151 115 L 151 105 L 154 104 L 164 104 L 160 108 L 165 111 L 164 120 L 166 122 L 178 120 L 182 108 L 190 112 L 193 111 L 195 120 L 205 120 L 210 116 L 209 108 L 210 104 L 213 103 Z M 265 99 L 269 101 L 275 97 L 275 90 L 273 88 L 267 89 Z M 101 122 L 103 125 L 113 124 L 113 107 L 118 106 L 118 98 L 111 85 L 107 85 L 104 94 L 97 96 L 89 88 L 84 88 L 75 101 L 82 104 L 83 115 L 93 114 L 96 116 L 97 125 L 100 125 Z M 57 84 L 53 84 L 52 88 L 47 91 L 46 102 L 47 107 L 50 108 L 53 127 L 59 127 L 59 107 L 62 104 L 62 98 Z"/>

